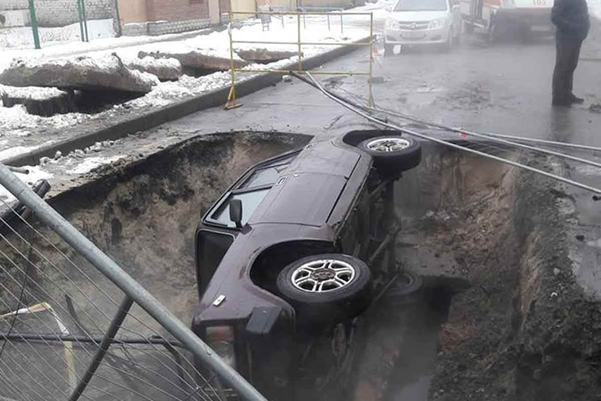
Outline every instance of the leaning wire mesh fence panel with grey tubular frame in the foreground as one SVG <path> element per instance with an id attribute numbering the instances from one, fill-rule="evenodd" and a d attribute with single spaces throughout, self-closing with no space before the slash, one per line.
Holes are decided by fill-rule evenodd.
<path id="1" fill-rule="evenodd" d="M 265 401 L 2 164 L 1 186 L 0 400 Z"/>

